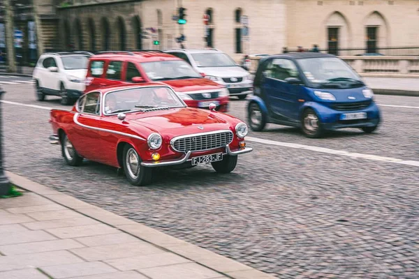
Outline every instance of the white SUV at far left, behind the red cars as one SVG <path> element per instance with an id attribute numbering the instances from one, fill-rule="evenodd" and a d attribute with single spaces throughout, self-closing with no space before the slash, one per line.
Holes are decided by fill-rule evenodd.
<path id="1" fill-rule="evenodd" d="M 34 73 L 36 97 L 61 96 L 61 105 L 71 105 L 84 91 L 90 52 L 56 52 L 42 54 Z"/>

